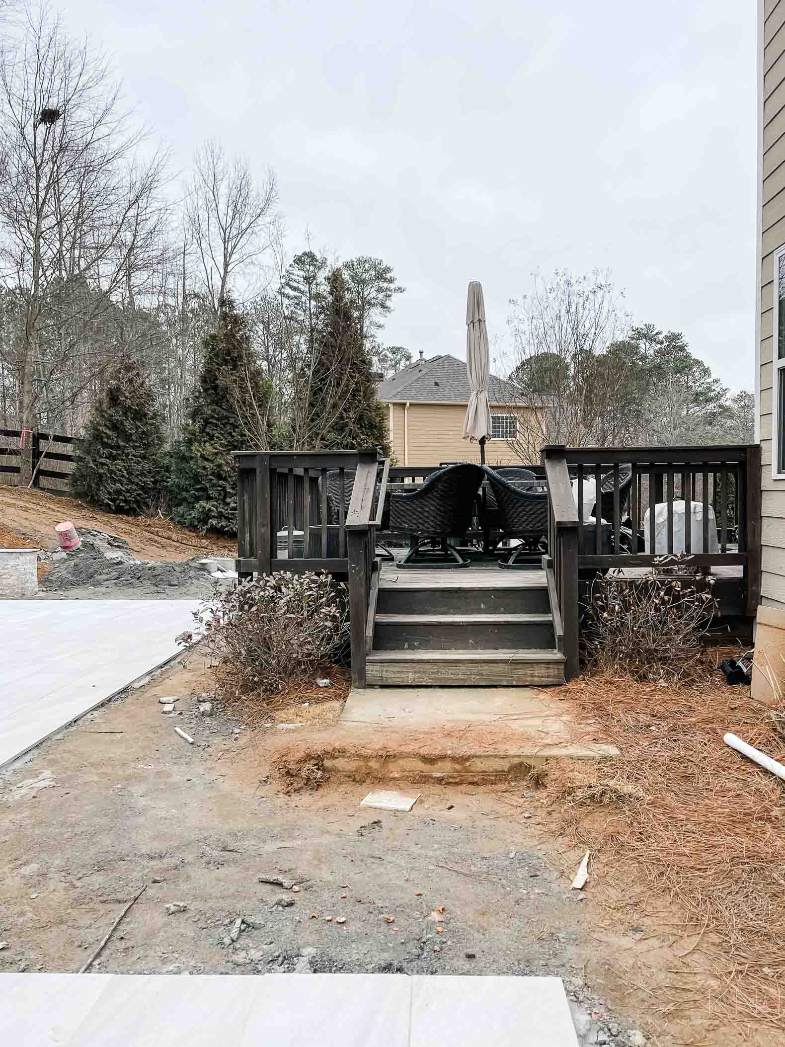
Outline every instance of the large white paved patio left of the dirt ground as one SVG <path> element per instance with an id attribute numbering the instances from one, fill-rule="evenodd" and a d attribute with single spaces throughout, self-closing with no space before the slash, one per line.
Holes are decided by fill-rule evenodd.
<path id="1" fill-rule="evenodd" d="M 0 601 L 0 766 L 175 655 L 193 600 Z"/>

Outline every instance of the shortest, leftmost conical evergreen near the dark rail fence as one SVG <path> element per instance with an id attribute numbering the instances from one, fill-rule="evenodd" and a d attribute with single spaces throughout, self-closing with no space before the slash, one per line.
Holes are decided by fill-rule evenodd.
<path id="1" fill-rule="evenodd" d="M 148 377 L 125 359 L 109 375 L 80 441 L 71 490 L 112 513 L 150 512 L 161 491 L 163 424 Z"/>

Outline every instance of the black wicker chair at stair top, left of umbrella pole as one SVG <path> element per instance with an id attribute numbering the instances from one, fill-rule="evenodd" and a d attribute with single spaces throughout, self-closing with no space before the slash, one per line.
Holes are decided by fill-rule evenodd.
<path id="1" fill-rule="evenodd" d="M 419 491 L 391 495 L 389 529 L 413 539 L 399 566 L 469 566 L 448 538 L 462 538 L 469 530 L 481 483 L 480 466 L 453 465 L 431 473 Z"/>

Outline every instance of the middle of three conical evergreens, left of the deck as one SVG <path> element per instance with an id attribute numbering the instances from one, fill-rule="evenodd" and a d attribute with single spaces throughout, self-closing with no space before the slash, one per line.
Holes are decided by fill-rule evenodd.
<path id="1" fill-rule="evenodd" d="M 202 371 L 182 439 L 170 458 L 172 518 L 204 534 L 237 533 L 237 463 L 251 441 L 269 447 L 270 383 L 257 366 L 245 316 L 221 305 L 204 340 Z"/>

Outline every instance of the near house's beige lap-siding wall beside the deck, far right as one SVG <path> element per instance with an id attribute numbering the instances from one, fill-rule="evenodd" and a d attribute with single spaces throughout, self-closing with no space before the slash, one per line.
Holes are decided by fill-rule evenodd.
<path id="1" fill-rule="evenodd" d="M 761 603 L 785 611 L 785 0 L 758 4 L 757 258 Z"/>

